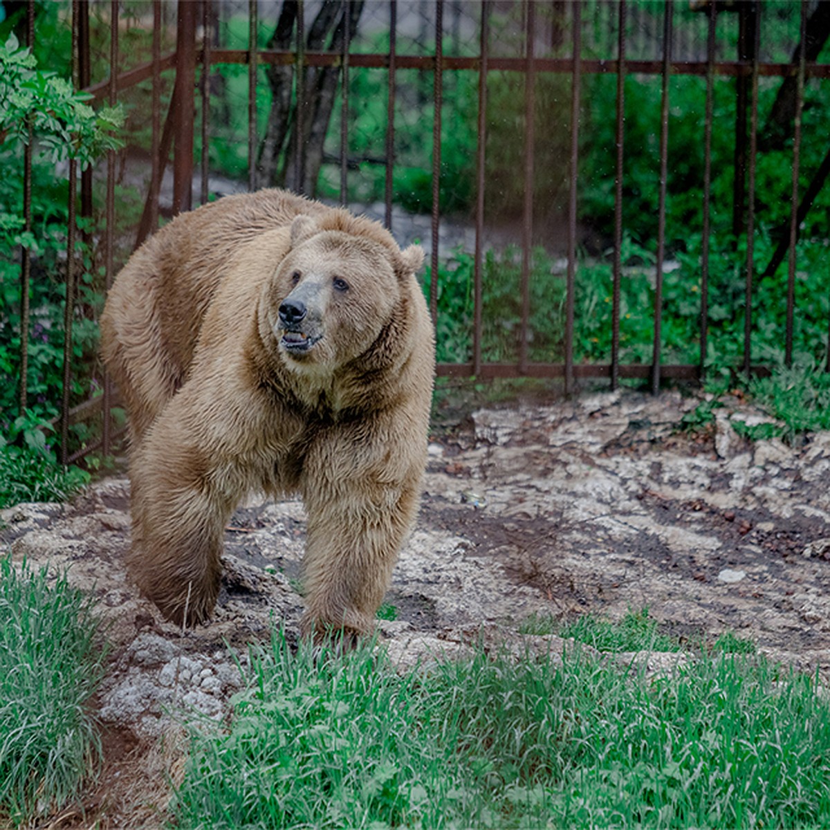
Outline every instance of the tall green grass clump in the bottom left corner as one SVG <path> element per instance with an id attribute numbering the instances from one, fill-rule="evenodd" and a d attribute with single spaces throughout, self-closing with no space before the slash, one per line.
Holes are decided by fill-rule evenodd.
<path id="1" fill-rule="evenodd" d="M 0 824 L 81 793 L 100 754 L 90 715 L 103 653 L 89 598 L 46 569 L 0 559 Z"/>

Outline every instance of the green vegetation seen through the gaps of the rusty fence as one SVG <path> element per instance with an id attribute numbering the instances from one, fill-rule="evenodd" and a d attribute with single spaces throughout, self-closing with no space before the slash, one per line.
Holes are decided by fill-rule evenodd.
<path id="1" fill-rule="evenodd" d="M 647 2 L 629 4 L 628 56 L 659 58 L 662 8 Z M 104 78 L 108 66 L 108 21 L 106 5 L 92 5 L 92 76 Z M 454 8 L 454 7 L 453 7 Z M 602 3 L 582 5 L 583 56 L 613 59 L 616 54 L 616 16 Z M 129 0 L 123 5 L 125 25 L 120 32 L 122 69 L 149 58 L 149 3 Z M 247 44 L 247 7 L 223 4 L 217 7 L 214 46 L 242 48 Z M 762 14 L 764 60 L 789 61 L 798 44 L 798 8 L 769 2 Z M 315 12 L 316 13 L 316 12 Z M 448 12 L 449 13 L 449 12 Z M 569 17 L 556 4 L 539 8 L 540 31 L 548 31 L 546 42 L 537 44 L 539 56 L 567 57 Z M 388 32 L 374 21 L 374 10 L 364 8 L 354 51 L 384 51 Z M 523 23 L 520 5 L 500 7 L 494 12 L 491 37 L 494 56 L 522 54 Z M 452 55 L 477 54 L 477 7 L 461 4 L 459 17 L 448 24 L 445 50 Z M 19 23 L 19 22 L 18 22 Z M 66 8 L 59 3 L 37 6 L 35 56 L 41 66 L 69 74 L 70 33 Z M 0 23 L 0 38 L 16 22 Z M 258 45 L 271 42 L 274 19 L 263 17 Z M 716 55 L 731 60 L 736 54 L 737 15 L 725 11 L 718 18 Z M 17 30 L 20 27 L 17 25 Z M 419 32 L 403 27 L 398 38 L 401 54 L 430 55 L 434 51 L 432 30 Z M 706 16 L 686 6 L 676 7 L 676 56 L 700 60 L 705 56 Z M 174 22 L 166 19 L 164 47 L 173 45 Z M 826 60 L 827 47 L 818 56 Z M 32 71 L 35 71 L 32 69 Z M 39 76 L 44 76 L 40 72 Z M 56 76 L 50 83 L 56 83 Z M 45 76 L 44 76 L 45 77 Z M 399 70 L 396 76 L 393 199 L 409 212 L 432 208 L 432 75 L 419 70 Z M 486 214 L 488 238 L 518 237 L 524 204 L 525 76 L 520 72 L 491 71 L 487 83 Z M 64 81 L 61 81 L 64 83 Z M 244 66 L 214 67 L 209 79 L 210 113 L 207 152 L 212 173 L 230 179 L 247 178 L 247 69 Z M 621 360 L 647 363 L 652 358 L 655 304 L 655 253 L 657 249 L 657 145 L 659 142 L 660 78 L 631 74 L 626 81 L 626 162 L 623 178 L 624 238 L 621 295 Z M 349 71 L 348 193 L 352 203 L 372 203 L 383 198 L 385 187 L 385 140 L 387 118 L 387 72 L 359 66 Z M 781 80 L 762 77 L 759 82 L 759 119 L 764 125 L 774 109 Z M 702 355 L 709 377 L 735 374 L 743 358 L 745 315 L 746 239 L 732 232 L 732 201 L 735 183 L 734 78 L 715 79 L 715 129 L 712 145 L 712 232 L 710 234 L 709 339 Z M 170 77 L 163 78 L 163 105 L 170 94 Z M 532 361 L 560 362 L 564 359 L 565 237 L 562 223 L 568 198 L 570 79 L 567 74 L 540 72 L 535 76 L 535 168 L 533 176 L 534 239 L 531 253 L 531 317 L 527 339 Z M 828 110 L 828 85 L 818 79 L 806 86 L 801 153 L 801 193 L 813 178 L 826 152 L 823 115 Z M 37 94 L 44 94 L 44 87 Z M 71 95 L 71 88 L 61 88 Z M 471 218 L 476 197 L 475 158 L 477 146 L 478 89 L 475 73 L 447 70 L 443 79 L 442 159 L 440 207 L 442 214 L 458 222 Z M 129 170 L 141 148 L 149 146 L 149 86 L 147 82 L 121 95 L 128 148 L 120 157 L 120 168 Z M 258 132 L 265 134 L 271 112 L 271 85 L 266 67 L 261 67 L 256 102 Z M 33 93 L 34 94 L 34 93 Z M 339 91 L 338 91 L 339 95 Z M 696 364 L 701 360 L 701 208 L 703 153 L 701 122 L 706 103 L 706 81 L 696 76 L 672 76 L 669 124 L 668 200 L 666 215 L 666 265 L 662 296 L 662 360 L 664 363 Z M 25 118 L 9 107 L 13 99 L 3 95 L 6 127 L 2 130 L 0 164 L 19 170 L 22 125 Z M 614 110 L 616 77 L 585 74 L 580 111 L 579 224 L 583 244 L 576 271 L 576 325 L 574 358 L 578 362 L 607 363 L 611 352 Z M 41 102 L 43 103 L 43 102 Z M 21 231 L 22 181 L 18 175 L 0 180 L 0 369 L 13 378 L 19 371 L 20 289 L 19 251 L 32 251 L 32 325 L 30 328 L 29 411 L 17 411 L 13 383 L 0 389 L 0 435 L 7 449 L 16 454 L 35 449 L 50 452 L 54 441 L 48 424 L 60 408 L 62 378 L 62 304 L 66 267 L 66 180 L 64 170 L 54 164 L 55 154 L 65 158 L 70 148 L 82 161 L 103 149 L 99 139 L 84 138 L 78 113 L 83 101 L 76 96 L 75 115 L 56 109 L 54 102 L 39 112 L 51 112 L 49 125 L 38 129 L 33 187 L 35 227 L 31 236 Z M 50 109 L 51 108 L 51 109 Z M 340 198 L 339 99 L 325 138 L 324 164 L 317 182 L 321 197 Z M 200 113 L 197 113 L 197 117 Z M 99 110 L 95 118 L 106 118 Z M 73 120 L 74 119 L 74 120 Z M 9 126 L 13 125 L 13 126 Z M 103 125 L 99 124 L 100 129 Z M 112 125 L 110 125 L 112 126 Z M 108 134 L 108 129 L 101 130 Z M 199 131 L 197 130 L 197 134 Z M 66 140 L 67 136 L 73 136 Z M 783 364 L 786 266 L 773 276 L 759 276 L 789 222 L 789 188 L 792 164 L 791 139 L 761 138 L 757 167 L 756 228 L 754 236 L 755 285 L 753 297 L 752 359 L 777 367 Z M 97 145 L 96 145 L 97 141 Z M 197 135 L 197 152 L 201 152 Z M 100 146 L 99 146 L 100 145 Z M 45 153 L 42 151 L 46 151 Z M 51 156 L 50 156 L 51 153 Z M 63 155 L 61 155 L 63 154 Z M 116 263 L 129 252 L 140 211 L 139 188 L 125 175 L 118 184 Z M 81 271 L 74 320 L 71 402 L 100 392 L 101 368 L 96 357 L 95 320 L 103 303 L 104 251 L 100 235 L 103 209 L 100 181 L 95 179 L 95 215 L 87 224 L 74 253 Z M 798 313 L 793 332 L 794 357 L 804 377 L 814 378 L 815 369 L 827 355 L 827 320 L 830 300 L 823 275 L 830 271 L 828 234 L 823 217 L 830 208 L 826 188 L 801 228 L 797 248 L 795 301 Z M 515 362 L 520 352 L 520 275 L 518 247 L 493 244 L 483 267 L 484 328 L 483 359 Z M 431 275 L 427 269 L 424 284 Z M 441 251 L 438 275 L 438 359 L 466 362 L 471 359 L 473 323 L 473 260 L 463 247 Z M 426 290 L 426 288 L 425 288 Z M 733 377 L 733 379 L 735 379 Z M 810 381 L 812 383 L 812 381 Z M 816 380 L 816 383 L 820 381 Z M 45 428 L 46 440 L 35 435 Z M 73 447 L 95 437 L 97 427 L 73 427 Z M 40 446 L 32 447 L 32 441 Z M 12 449 L 13 448 L 13 449 Z"/>

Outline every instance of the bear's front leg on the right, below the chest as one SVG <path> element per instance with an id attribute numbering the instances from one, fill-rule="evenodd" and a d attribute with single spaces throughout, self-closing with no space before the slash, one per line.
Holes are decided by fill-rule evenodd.
<path id="1" fill-rule="evenodd" d="M 369 475 L 333 481 L 332 474 L 304 494 L 308 535 L 301 628 L 315 640 L 332 631 L 354 638 L 373 630 L 417 511 L 418 481 L 393 484 Z"/>

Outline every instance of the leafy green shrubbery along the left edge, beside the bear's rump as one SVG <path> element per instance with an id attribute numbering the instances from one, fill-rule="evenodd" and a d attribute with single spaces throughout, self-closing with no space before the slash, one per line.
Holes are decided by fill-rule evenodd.
<path id="1" fill-rule="evenodd" d="M 55 163 L 77 159 L 85 167 L 97 155 L 121 146 L 115 135 L 123 123 L 119 107 L 93 110 L 90 95 L 76 93 L 71 84 L 53 72 L 37 69 L 32 53 L 18 48 L 12 35 L 0 45 L 0 164 L 22 170 L 22 146 L 31 138 L 38 152 L 32 159 L 32 231 L 24 229 L 21 176 L 0 179 L 0 371 L 20 376 L 22 294 L 17 252 L 27 248 L 32 258 L 29 290 L 28 371 L 26 413 L 17 411 L 17 384 L 0 387 L 2 443 L 43 452 L 48 431 L 61 403 L 66 303 L 66 245 L 68 186 L 56 173 Z M 79 222 L 82 224 L 82 222 Z M 76 286 L 71 358 L 71 403 L 95 393 L 100 376 L 97 365 L 98 330 L 95 319 L 103 305 L 101 275 L 95 271 L 91 251 L 80 241 L 71 252 L 80 276 Z M 80 371 L 79 371 L 80 369 Z M 21 418 L 26 424 L 23 429 Z M 73 432 L 82 431 L 76 427 Z M 37 442 L 35 446 L 32 442 Z M 71 489 L 77 476 L 48 470 L 46 460 L 32 452 L 3 451 L 3 464 L 11 476 L 7 491 L 57 496 Z M 45 482 L 51 484 L 46 486 Z M 26 482 L 29 482 L 28 484 Z"/>

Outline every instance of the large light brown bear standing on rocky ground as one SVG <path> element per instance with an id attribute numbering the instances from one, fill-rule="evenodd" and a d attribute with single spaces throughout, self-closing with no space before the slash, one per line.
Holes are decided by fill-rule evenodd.
<path id="1" fill-rule="evenodd" d="M 427 455 L 432 323 L 376 222 L 269 189 L 182 214 L 130 258 L 101 336 L 129 414 L 129 571 L 165 617 L 216 603 L 247 493 L 308 514 L 302 628 L 368 632 Z"/>

